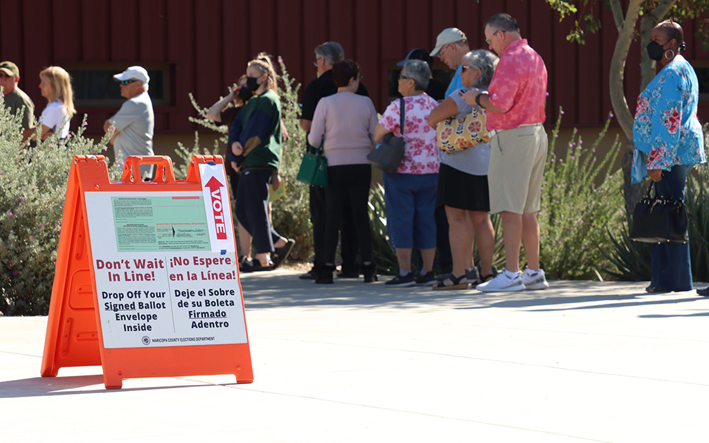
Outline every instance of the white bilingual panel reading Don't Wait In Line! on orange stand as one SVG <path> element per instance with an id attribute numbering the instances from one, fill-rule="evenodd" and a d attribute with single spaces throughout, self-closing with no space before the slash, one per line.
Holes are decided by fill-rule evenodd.
<path id="1" fill-rule="evenodd" d="M 104 347 L 247 342 L 234 247 L 212 252 L 201 191 L 84 196 Z"/>

